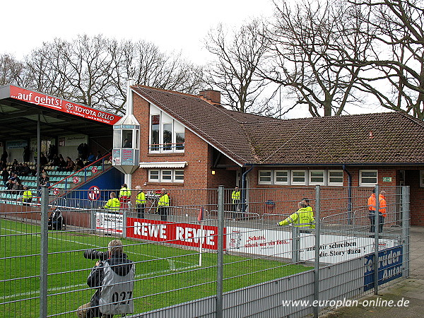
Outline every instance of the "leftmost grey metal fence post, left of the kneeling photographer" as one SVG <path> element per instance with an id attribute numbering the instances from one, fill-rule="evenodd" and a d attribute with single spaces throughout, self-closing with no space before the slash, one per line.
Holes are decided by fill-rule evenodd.
<path id="1" fill-rule="evenodd" d="M 49 252 L 49 189 L 41 187 L 41 239 L 40 239 L 40 318 L 47 317 L 47 261 Z"/>

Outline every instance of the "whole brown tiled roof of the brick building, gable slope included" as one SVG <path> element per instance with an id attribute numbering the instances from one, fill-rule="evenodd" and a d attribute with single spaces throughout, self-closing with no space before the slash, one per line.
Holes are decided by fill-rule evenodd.
<path id="1" fill-rule="evenodd" d="M 424 163 L 424 122 L 401 112 L 273 119 L 196 95 L 133 89 L 240 165 Z"/>

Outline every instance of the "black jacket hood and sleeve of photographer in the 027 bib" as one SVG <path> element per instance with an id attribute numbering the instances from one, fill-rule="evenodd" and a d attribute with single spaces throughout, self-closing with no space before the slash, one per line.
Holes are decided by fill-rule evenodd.
<path id="1" fill-rule="evenodd" d="M 134 266 L 133 262 L 126 257 L 125 253 L 113 254 L 112 257 L 106 259 L 105 261 L 107 261 L 109 265 L 112 266 L 113 271 L 119 276 L 126 276 L 131 270 L 132 266 Z M 100 289 L 103 285 L 103 266 L 105 261 L 100 261 L 98 266 L 94 266 L 87 278 L 87 285 L 91 288 L 97 288 L 90 300 L 90 306 L 95 307 L 94 310 L 96 313 L 98 313 L 98 307 L 96 306 L 99 305 Z"/>

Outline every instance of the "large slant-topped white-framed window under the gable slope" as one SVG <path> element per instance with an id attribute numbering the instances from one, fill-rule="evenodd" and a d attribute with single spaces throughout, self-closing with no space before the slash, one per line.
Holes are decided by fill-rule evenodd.
<path id="1" fill-rule="evenodd" d="M 159 153 L 173 153 L 184 151 L 185 127 L 151 105 L 151 131 L 149 151 Z"/>

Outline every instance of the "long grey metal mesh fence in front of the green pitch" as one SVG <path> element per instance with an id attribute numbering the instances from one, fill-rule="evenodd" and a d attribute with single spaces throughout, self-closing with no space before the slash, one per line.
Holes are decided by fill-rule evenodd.
<path id="1" fill-rule="evenodd" d="M 376 187 L 387 215 L 373 232 L 363 187 L 242 189 L 240 201 L 223 187 L 172 189 L 162 215 L 153 190 L 143 211 L 136 190 L 119 211 L 104 208 L 119 190 L 42 190 L 30 203 L 0 195 L 0 317 L 75 317 L 95 292 L 97 260 L 83 252 L 115 238 L 136 268 L 129 317 L 317 317 L 409 274 L 408 187 Z M 277 226 L 302 198 L 315 228 Z M 53 205 L 60 230 L 47 227 Z"/>

